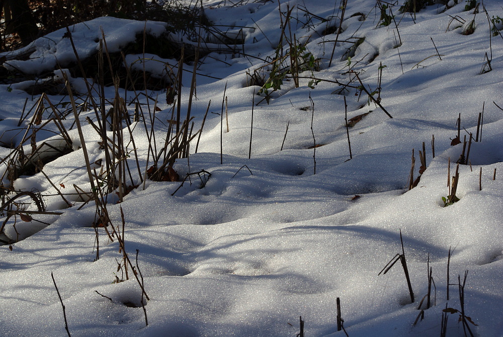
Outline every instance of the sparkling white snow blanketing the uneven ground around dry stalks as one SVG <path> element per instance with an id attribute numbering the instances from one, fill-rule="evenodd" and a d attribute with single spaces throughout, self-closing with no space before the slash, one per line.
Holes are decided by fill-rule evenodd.
<path id="1" fill-rule="evenodd" d="M 31 222 L 17 215 L 7 221 L 2 239 L 15 240 L 19 233 L 20 241 L 0 247 L 0 335 L 66 335 L 53 273 L 73 336 L 294 337 L 300 332 L 299 316 L 305 321 L 306 336 L 343 336 L 345 331 L 337 331 L 337 298 L 351 337 L 441 336 L 446 308 L 454 313 L 445 313 L 449 318 L 445 335 L 463 336 L 470 332 L 463 328 L 462 316 L 456 311 L 462 310 L 458 276 L 462 285 L 467 271 L 462 292 L 465 321 L 473 335 L 502 336 L 503 111 L 496 104 L 503 106 L 503 37 L 497 31 L 503 9 L 498 1 L 487 0 L 487 15 L 482 4 L 474 15 L 473 9 L 465 11 L 468 2 L 458 1 L 451 1 L 449 9 L 429 6 L 415 15 L 401 13 L 401 3 L 391 6 L 396 25 L 391 21 L 388 26 L 380 25 L 381 11 L 374 1 L 349 1 L 339 35 L 333 32 L 337 29 L 323 35 L 327 27 L 339 27 L 339 2 L 281 0 L 279 7 L 273 1 L 237 6 L 206 1 L 205 13 L 214 24 L 234 27 L 221 27 L 229 35 L 247 27 L 242 28 L 245 40 L 240 49 L 247 56 L 213 52 L 202 58 L 197 99 L 192 102 L 194 130 L 200 128 L 210 100 L 211 106 L 197 153 L 196 137 L 189 159 L 178 159 L 174 165 L 181 177 L 178 182 L 147 179 L 144 185 L 140 183 L 141 172 L 152 160 L 148 154 L 152 119 L 145 118 L 145 125 L 133 122 L 140 169 L 133 145 L 128 144 L 133 178 L 128 184 L 139 186 L 120 204 L 111 193 L 107 205 L 113 226 L 121 231 L 121 209 L 124 213 L 125 249 L 141 271 L 149 300 L 142 296 L 131 269 L 129 280 L 116 282 L 125 279 L 124 267 L 118 269 L 123 254 L 118 240 L 110 241 L 102 227 L 98 228 L 96 259 L 96 206 L 93 201 L 83 205 L 72 187 L 91 190 L 70 113 L 61 123 L 75 151 L 44 166 L 43 173 L 52 184 L 41 172 L 14 181 L 18 192 L 41 193 L 45 211 L 62 214 L 32 214 Z M 271 94 L 269 104 L 263 100 L 264 94 L 255 96 L 252 124 L 252 100 L 260 87 L 246 84 L 250 74 L 273 60 L 281 22 L 289 9 L 287 37 L 295 36 L 300 44 L 307 42 L 303 52 L 319 59 L 319 71 L 301 72 L 306 79 L 300 79 L 298 88 L 293 80 L 285 79 L 281 89 Z M 472 19 L 474 33 L 463 35 Z M 80 57 L 98 49 L 101 29 L 112 52 L 144 29 L 161 34 L 165 25 L 114 18 L 78 24 L 71 30 Z M 57 62 L 74 57 L 65 32 L 54 32 L 27 47 L 25 50 L 32 50 L 31 59 L 10 60 L 4 65 L 32 73 L 54 70 Z M 498 34 L 491 36 L 493 32 Z M 354 43 L 338 42 L 328 66 L 336 37 L 339 41 L 360 39 L 361 44 L 348 59 Z M 285 51 L 288 48 L 286 45 Z M 491 59 L 488 72 L 484 71 L 489 70 L 486 56 Z M 126 58 L 134 62 L 139 57 L 143 55 Z M 165 62 L 171 62 L 177 72 L 176 60 L 158 57 L 147 61 L 145 68 L 162 73 Z M 136 63 L 138 69 L 143 68 L 143 62 Z M 189 104 L 192 65 L 185 69 L 183 115 Z M 63 72 L 55 74 L 60 81 Z M 355 73 L 369 92 L 378 91 L 380 79 L 380 93 L 373 97 L 379 95 L 381 107 L 357 88 L 360 83 Z M 310 88 L 309 77 L 313 76 L 323 81 Z M 86 90 L 82 79 L 69 81 L 75 91 Z M 345 96 L 340 94 L 343 87 L 335 82 L 350 83 Z M 39 98 L 21 90 L 30 85 L 0 86 L 0 141 L 6 146 L 0 148 L 2 158 L 12 152 L 10 144 L 17 146 L 23 140 L 37 111 L 34 108 L 18 125 L 25 100 L 28 98 L 27 113 Z M 226 118 L 220 116 L 224 88 L 228 132 Z M 99 101 L 99 90 L 94 93 Z M 108 111 L 114 88 L 106 88 L 105 94 Z M 126 102 L 134 96 L 122 89 L 118 94 Z M 153 128 L 161 147 L 172 106 L 165 103 L 164 92 L 148 94 L 159 100 Z M 145 95 L 138 97 L 145 116 L 152 116 L 154 102 L 149 100 L 147 107 Z M 344 97 L 348 119 L 372 111 L 349 128 L 351 160 Z M 65 110 L 63 104 L 70 108 L 67 96 L 49 99 L 53 104 L 63 102 L 58 109 Z M 468 141 L 469 133 L 475 138 L 482 109 L 479 142 L 470 144 L 471 165 L 459 165 L 456 195 L 460 200 L 444 207 L 442 197 L 448 196 L 447 182 L 451 180 L 448 172 L 455 174 L 463 151 L 463 144 L 451 146 L 457 137 L 458 116 L 461 114 L 461 142 L 465 135 Z M 134 113 L 134 104 L 128 111 Z M 56 123 L 44 125 L 53 117 L 51 112 L 48 107 L 41 124 L 35 125 L 43 126 L 36 133 L 37 145 L 61 143 Z M 100 171 L 104 164 L 96 162 L 103 159 L 104 163 L 105 151 L 87 117 L 96 122 L 95 111 L 80 112 L 79 120 L 89 161 Z M 127 128 L 124 134 L 129 134 Z M 423 142 L 427 168 L 417 186 L 409 190 L 412 149 L 416 177 Z M 23 145 L 29 154 L 30 138 Z M 2 173 L 6 167 L 3 161 Z M 201 170 L 211 176 L 192 175 L 177 190 L 187 173 Z M 6 175 L 3 182 L 9 184 Z M 56 187 L 72 207 L 65 208 Z M 20 197 L 18 202 L 30 203 L 31 198 Z M 18 203 L 17 207 L 37 211 L 35 204 Z M 388 261 L 402 254 L 400 231 L 414 303 L 401 263 L 378 276 Z M 422 299 L 428 293 L 429 267 L 433 285 L 431 307 L 427 308 L 427 300 Z M 421 314 L 418 307 L 424 310 L 424 319 L 416 321 Z"/>

